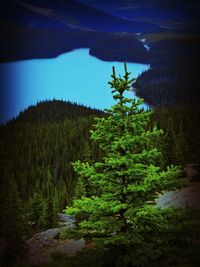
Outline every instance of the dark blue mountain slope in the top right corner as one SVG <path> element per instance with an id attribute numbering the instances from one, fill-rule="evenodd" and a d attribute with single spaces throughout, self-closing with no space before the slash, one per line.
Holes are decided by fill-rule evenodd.
<path id="1" fill-rule="evenodd" d="M 159 1 L 123 1 L 123 0 L 79 0 L 99 10 L 106 11 L 119 18 L 145 21 L 161 28 L 189 29 L 200 27 L 198 1 L 159 0 Z"/>

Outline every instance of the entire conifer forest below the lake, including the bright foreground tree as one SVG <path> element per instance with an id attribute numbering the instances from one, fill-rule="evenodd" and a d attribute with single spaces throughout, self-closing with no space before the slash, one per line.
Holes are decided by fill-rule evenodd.
<path id="1" fill-rule="evenodd" d="M 76 226 L 60 238 L 82 237 L 95 249 L 57 253 L 41 266 L 97 258 L 98 266 L 188 266 L 199 249 L 198 212 L 155 202 L 183 187 L 184 166 L 199 162 L 199 107 L 144 110 L 143 100 L 124 96 L 133 82 L 124 67 L 123 77 L 113 67 L 116 104 L 105 112 L 44 101 L 1 125 L 2 266 L 18 266 L 25 239 L 56 227 L 63 210 Z"/>

